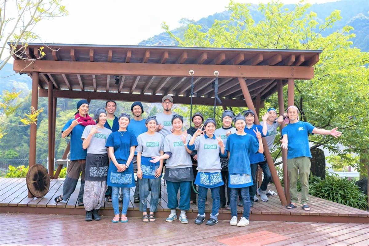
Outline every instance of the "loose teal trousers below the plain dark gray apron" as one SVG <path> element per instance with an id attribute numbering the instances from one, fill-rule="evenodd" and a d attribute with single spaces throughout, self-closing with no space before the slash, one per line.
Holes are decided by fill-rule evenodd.
<path id="1" fill-rule="evenodd" d="M 168 208 L 175 209 L 178 207 L 178 189 L 180 191 L 179 208 L 181 210 L 189 210 L 191 181 L 166 181 L 166 191 L 168 193 Z"/>

